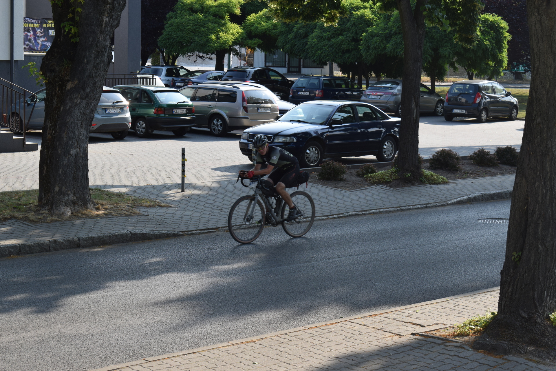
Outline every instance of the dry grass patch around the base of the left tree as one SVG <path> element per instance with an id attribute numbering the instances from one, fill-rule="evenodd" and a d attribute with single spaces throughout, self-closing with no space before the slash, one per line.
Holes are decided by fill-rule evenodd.
<path id="1" fill-rule="evenodd" d="M 135 207 L 170 207 L 156 200 L 98 188 L 91 189 L 91 197 L 96 204 L 94 210 L 59 217 L 38 210 L 36 189 L 0 192 L 0 221 L 17 219 L 36 224 L 86 217 L 140 215 L 141 213 Z"/>

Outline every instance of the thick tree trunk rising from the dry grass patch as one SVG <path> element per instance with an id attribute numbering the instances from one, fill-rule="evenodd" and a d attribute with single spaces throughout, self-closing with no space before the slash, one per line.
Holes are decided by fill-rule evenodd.
<path id="1" fill-rule="evenodd" d="M 77 3 L 77 2 L 76 2 Z M 78 35 L 64 33 L 75 22 L 74 3 L 52 4 L 56 38 L 44 56 L 44 127 L 39 160 L 38 204 L 54 215 L 91 209 L 88 179 L 89 130 L 112 60 L 110 41 L 126 0 L 85 0 Z M 79 37 L 78 41 L 72 38 Z"/>

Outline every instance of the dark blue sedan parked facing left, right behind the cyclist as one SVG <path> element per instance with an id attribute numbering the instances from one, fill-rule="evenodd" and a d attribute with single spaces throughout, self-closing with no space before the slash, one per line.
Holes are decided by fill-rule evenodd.
<path id="1" fill-rule="evenodd" d="M 266 135 L 270 145 L 296 156 L 302 168 L 331 157 L 374 155 L 379 161 L 392 161 L 399 128 L 399 118 L 368 103 L 312 101 L 295 106 L 279 121 L 247 128 L 239 145 L 251 159 L 253 139 Z"/>

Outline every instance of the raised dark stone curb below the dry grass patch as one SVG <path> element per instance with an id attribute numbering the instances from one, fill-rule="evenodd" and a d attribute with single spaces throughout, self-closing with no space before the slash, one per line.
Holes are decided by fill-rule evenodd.
<path id="1" fill-rule="evenodd" d="M 12 255 L 48 253 L 67 249 L 92 248 L 95 246 L 123 244 L 128 242 L 156 240 L 183 236 L 178 231 L 125 230 L 115 233 L 84 235 L 78 237 L 50 239 L 21 244 L 0 245 L 0 258 Z"/>

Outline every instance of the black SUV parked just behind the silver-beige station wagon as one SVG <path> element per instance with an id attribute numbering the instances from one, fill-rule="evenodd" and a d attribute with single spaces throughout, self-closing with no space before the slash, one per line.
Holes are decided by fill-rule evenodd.
<path id="1" fill-rule="evenodd" d="M 270 91 L 280 97 L 281 100 L 288 100 L 290 88 L 294 82 L 288 80 L 280 72 L 268 67 L 234 67 L 226 72 L 222 81 L 245 81 L 255 82 L 267 87 Z"/>

